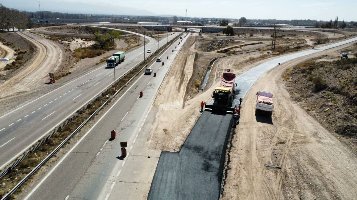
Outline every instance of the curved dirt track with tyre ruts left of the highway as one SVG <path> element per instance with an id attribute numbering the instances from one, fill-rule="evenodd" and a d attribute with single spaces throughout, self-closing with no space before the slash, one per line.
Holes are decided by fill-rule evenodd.
<path id="1" fill-rule="evenodd" d="M 48 73 L 55 72 L 61 65 L 63 53 L 55 43 L 31 32 L 18 32 L 17 34 L 35 45 L 36 57 L 20 73 L 2 84 L 0 98 L 25 93 L 38 85 L 47 83 Z"/>

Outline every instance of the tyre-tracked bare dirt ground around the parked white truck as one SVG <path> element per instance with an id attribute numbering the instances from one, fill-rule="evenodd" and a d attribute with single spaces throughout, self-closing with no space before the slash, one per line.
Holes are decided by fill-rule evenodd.
<path id="1" fill-rule="evenodd" d="M 356 148 L 346 146 L 292 102 L 282 82 L 287 68 L 315 56 L 272 69 L 248 91 L 240 125 L 232 131 L 221 199 L 355 198 Z M 272 119 L 255 116 L 257 90 L 274 93 Z"/>

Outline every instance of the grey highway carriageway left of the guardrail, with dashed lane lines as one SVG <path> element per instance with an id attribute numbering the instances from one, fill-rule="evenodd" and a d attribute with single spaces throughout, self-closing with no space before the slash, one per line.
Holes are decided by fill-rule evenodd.
<path id="1" fill-rule="evenodd" d="M 134 33 L 134 32 L 131 32 Z M 139 33 L 134 33 L 141 35 Z M 143 36 L 143 35 L 141 35 Z M 158 42 L 147 37 L 146 49 L 154 52 Z M 172 40 L 173 35 L 162 38 L 160 46 Z M 116 79 L 139 64 L 151 53 L 144 46 L 126 53 L 125 61 L 115 68 Z M 53 130 L 102 90 L 114 82 L 114 69 L 105 65 L 70 81 L 39 98 L 18 106 L 0 117 L 0 169 L 26 151 L 32 144 Z M 53 84 L 54 87 L 57 83 Z"/>

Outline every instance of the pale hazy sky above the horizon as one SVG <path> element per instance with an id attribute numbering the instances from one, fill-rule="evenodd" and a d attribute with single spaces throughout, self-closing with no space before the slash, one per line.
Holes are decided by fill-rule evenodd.
<path id="1" fill-rule="evenodd" d="M 119 4 L 120 2 L 120 4 Z M 1 0 L 19 10 L 38 11 L 37 0 Z M 177 15 L 247 19 L 357 21 L 357 0 L 40 0 L 41 10 L 115 15 Z"/>

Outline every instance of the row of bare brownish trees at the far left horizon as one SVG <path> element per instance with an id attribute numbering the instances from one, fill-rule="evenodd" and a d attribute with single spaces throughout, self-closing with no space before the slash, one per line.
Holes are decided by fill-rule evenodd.
<path id="1" fill-rule="evenodd" d="M 32 28 L 33 22 L 24 12 L 10 9 L 0 4 L 0 29 L 7 30 L 19 28 Z"/>

